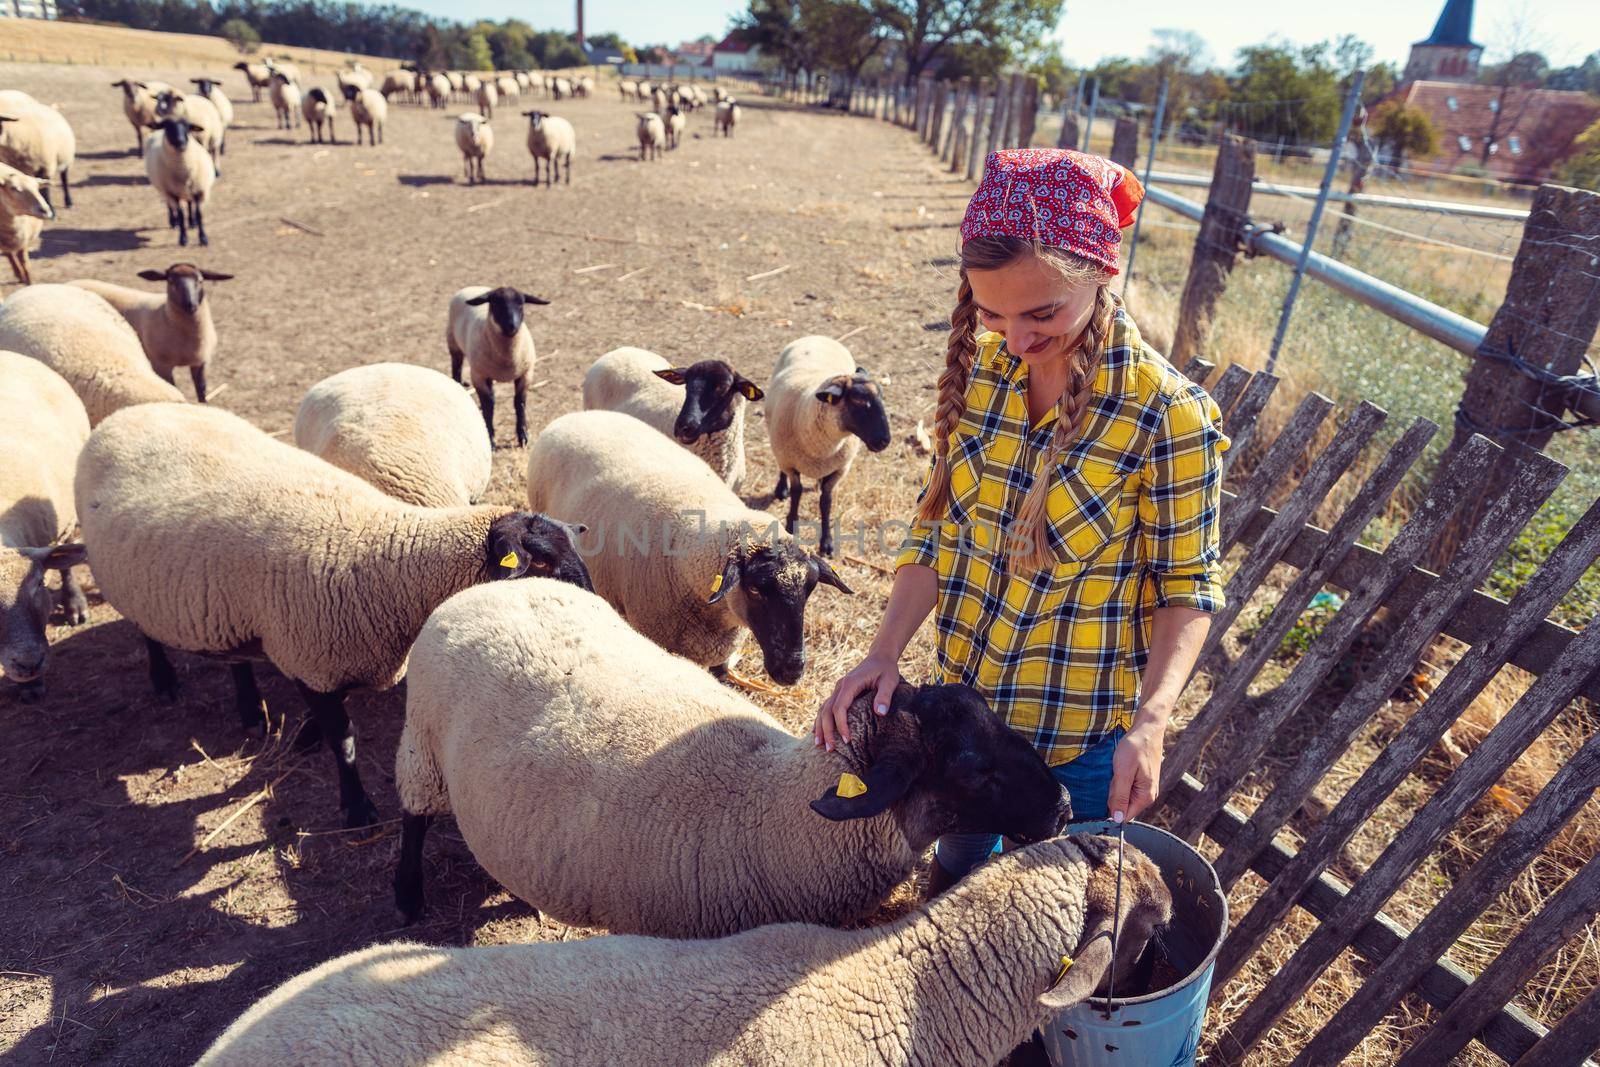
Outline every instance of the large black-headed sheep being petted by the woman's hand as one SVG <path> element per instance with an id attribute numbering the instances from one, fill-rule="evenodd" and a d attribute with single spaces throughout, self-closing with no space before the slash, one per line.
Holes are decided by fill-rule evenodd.
<path id="1" fill-rule="evenodd" d="M 395 755 L 405 918 L 421 913 L 427 822 L 451 811 L 483 869 L 541 912 L 670 937 L 858 921 L 941 833 L 1040 840 L 1070 813 L 968 686 L 902 680 L 882 717 L 862 694 L 827 752 L 630 621 L 536 581 L 469 590 L 422 627 Z M 837 797 L 842 773 L 866 792 Z M 701 862 L 682 862 L 690 832 Z"/>

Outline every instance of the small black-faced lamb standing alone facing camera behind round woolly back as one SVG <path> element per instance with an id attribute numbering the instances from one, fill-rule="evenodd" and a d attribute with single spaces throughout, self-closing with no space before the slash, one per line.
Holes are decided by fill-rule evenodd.
<path id="1" fill-rule="evenodd" d="M 517 446 L 528 445 L 528 381 L 538 352 L 522 309 L 525 304 L 549 302 L 509 285 L 498 290 L 469 285 L 450 298 L 450 322 L 445 326 L 450 376 L 458 386 L 462 384 L 461 366 L 467 365 L 490 442 L 494 440 L 494 382 L 515 382 L 512 410 L 517 414 Z"/>

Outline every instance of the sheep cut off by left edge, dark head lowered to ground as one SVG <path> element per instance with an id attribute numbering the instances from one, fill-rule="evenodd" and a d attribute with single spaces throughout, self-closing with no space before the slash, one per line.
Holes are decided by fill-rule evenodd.
<path id="1" fill-rule="evenodd" d="M 0 672 L 22 686 L 24 701 L 45 694 L 45 571 L 61 573 L 67 625 L 88 621 L 72 573 L 83 545 L 64 542 L 78 525 L 72 469 L 88 437 L 90 418 L 66 379 L 38 360 L 0 352 Z"/>

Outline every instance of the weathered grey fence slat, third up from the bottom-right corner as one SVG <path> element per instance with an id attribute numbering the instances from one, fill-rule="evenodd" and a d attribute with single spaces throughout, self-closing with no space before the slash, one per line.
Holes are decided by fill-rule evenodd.
<path id="1" fill-rule="evenodd" d="M 1600 661 L 1590 661 L 1589 667 L 1594 669 L 1595 662 Z M 1382 1021 L 1394 1003 L 1416 984 L 1429 965 L 1445 955 L 1456 937 L 1472 925 L 1472 920 L 1589 803 L 1597 789 L 1600 789 L 1600 731 L 1592 734 L 1573 758 L 1555 773 L 1550 784 L 1539 790 L 1528 809 L 1494 841 L 1483 859 L 1472 865 L 1467 877 L 1451 886 L 1445 899 L 1416 925 L 1405 944 L 1373 969 L 1355 995 L 1334 1013 L 1328 1025 L 1301 1049 L 1294 1067 L 1336 1064 L 1355 1048 Z M 1418 816 L 1406 830 L 1414 829 L 1422 819 L 1424 816 Z M 1363 881 L 1370 877 L 1368 872 Z"/>

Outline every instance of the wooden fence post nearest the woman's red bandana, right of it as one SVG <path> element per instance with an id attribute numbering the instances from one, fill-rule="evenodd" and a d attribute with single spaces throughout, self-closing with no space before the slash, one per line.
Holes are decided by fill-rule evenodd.
<path id="1" fill-rule="evenodd" d="M 1227 134 L 1216 154 L 1211 171 L 1211 195 L 1200 219 L 1189 278 L 1184 282 L 1173 333 L 1171 360 L 1178 366 L 1205 354 L 1211 330 L 1211 312 L 1227 288 L 1227 275 L 1238 262 L 1240 226 L 1250 211 L 1250 187 L 1256 179 L 1256 146 L 1245 138 Z M 1443 470 L 1443 467 L 1440 467 Z"/>

